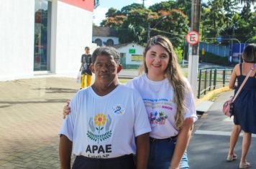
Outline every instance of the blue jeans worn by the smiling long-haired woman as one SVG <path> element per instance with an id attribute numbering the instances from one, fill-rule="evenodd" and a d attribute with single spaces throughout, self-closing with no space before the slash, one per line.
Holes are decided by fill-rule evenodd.
<path id="1" fill-rule="evenodd" d="M 147 169 L 168 169 L 173 158 L 177 138 L 150 143 L 150 158 Z M 180 161 L 180 168 L 188 169 L 188 155 L 185 152 Z"/>

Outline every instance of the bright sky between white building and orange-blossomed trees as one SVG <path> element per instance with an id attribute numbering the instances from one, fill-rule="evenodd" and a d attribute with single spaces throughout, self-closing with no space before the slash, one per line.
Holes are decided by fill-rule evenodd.
<path id="1" fill-rule="evenodd" d="M 145 6 L 148 7 L 160 2 L 161 0 L 145 0 Z M 113 7 L 120 10 L 122 7 L 133 3 L 142 4 L 142 0 L 99 0 L 99 6 L 93 11 L 93 23 L 99 26 L 101 21 L 105 19 L 105 14 L 109 8 Z"/>

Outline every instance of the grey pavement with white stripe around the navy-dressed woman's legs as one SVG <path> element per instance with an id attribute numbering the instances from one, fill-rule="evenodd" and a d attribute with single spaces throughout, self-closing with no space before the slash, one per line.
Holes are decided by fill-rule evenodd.
<path id="1" fill-rule="evenodd" d="M 234 91 L 223 92 L 217 97 L 214 105 L 195 124 L 196 132 L 193 133 L 188 146 L 189 165 L 192 169 L 205 168 L 239 168 L 239 160 L 242 152 L 242 134 L 240 134 L 234 152 L 237 160 L 227 162 L 229 150 L 229 136 L 233 127 L 233 118 L 229 118 L 221 112 L 222 105 L 228 100 Z M 247 160 L 251 168 L 256 168 L 256 136 L 252 135 L 252 143 L 247 154 Z"/>

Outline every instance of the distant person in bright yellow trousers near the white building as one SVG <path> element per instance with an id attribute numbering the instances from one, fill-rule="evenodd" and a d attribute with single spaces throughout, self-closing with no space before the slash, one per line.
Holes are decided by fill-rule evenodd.
<path id="1" fill-rule="evenodd" d="M 81 57 L 81 89 L 88 87 L 91 85 L 91 70 L 90 70 L 90 64 L 91 64 L 91 54 L 90 54 L 90 48 L 85 47 L 85 54 L 82 54 Z"/>

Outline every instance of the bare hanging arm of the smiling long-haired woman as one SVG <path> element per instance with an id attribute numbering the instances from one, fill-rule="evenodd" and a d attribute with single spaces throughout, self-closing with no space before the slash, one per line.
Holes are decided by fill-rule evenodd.
<path id="1" fill-rule="evenodd" d="M 183 157 L 183 154 L 188 147 L 188 142 L 191 137 L 191 133 L 193 130 L 193 117 L 188 117 L 184 120 L 183 126 L 180 129 L 178 134 L 178 140 L 175 145 L 175 150 L 173 153 L 173 158 L 170 162 L 169 169 L 178 168 L 180 165 L 180 160 Z"/>

